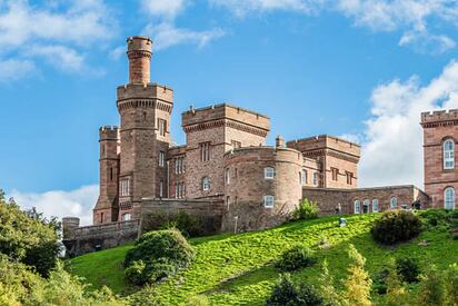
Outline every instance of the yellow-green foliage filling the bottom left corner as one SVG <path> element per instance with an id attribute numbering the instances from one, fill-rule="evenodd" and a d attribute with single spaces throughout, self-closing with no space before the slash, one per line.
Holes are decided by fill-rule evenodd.
<path id="1" fill-rule="evenodd" d="M 87 293 L 81 279 L 58 264 L 48 279 L 0 256 L 0 305 L 125 305 L 107 287 Z"/>

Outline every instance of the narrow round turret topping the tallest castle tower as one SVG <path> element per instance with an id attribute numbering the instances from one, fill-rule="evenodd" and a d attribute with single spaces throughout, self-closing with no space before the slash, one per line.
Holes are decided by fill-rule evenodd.
<path id="1" fill-rule="evenodd" d="M 127 39 L 129 58 L 129 83 L 150 82 L 152 41 L 148 37 L 135 36 Z"/>

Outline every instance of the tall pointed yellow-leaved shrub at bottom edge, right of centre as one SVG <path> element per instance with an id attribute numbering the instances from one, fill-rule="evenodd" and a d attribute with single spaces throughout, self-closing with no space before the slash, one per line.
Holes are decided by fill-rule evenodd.
<path id="1" fill-rule="evenodd" d="M 349 276 L 345 282 L 344 300 L 348 305 L 367 306 L 372 305 L 370 300 L 370 287 L 372 280 L 365 270 L 366 258 L 350 245 L 348 251 L 352 265 L 348 269 Z"/>

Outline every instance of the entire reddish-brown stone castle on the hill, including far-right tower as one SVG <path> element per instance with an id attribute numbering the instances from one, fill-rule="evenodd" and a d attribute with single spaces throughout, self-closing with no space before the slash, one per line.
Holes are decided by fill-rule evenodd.
<path id="1" fill-rule="evenodd" d="M 151 213 L 186 211 L 201 218 L 209 233 L 245 231 L 281 224 L 303 198 L 318 203 L 321 215 L 335 214 L 336 207 L 368 214 L 412 204 L 441 206 L 444 193 L 458 187 L 455 164 L 444 161 L 445 172 L 438 168 L 441 144 L 454 148 L 458 111 L 421 117 L 426 194 L 412 185 L 358 188 L 357 144 L 320 135 L 291 141 L 279 136 L 267 146 L 269 117 L 227 103 L 183 112 L 186 144 L 176 146 L 170 140 L 173 90 L 150 82 L 152 41 L 131 37 L 127 45 L 129 83 L 117 89 L 121 124 L 99 130 L 93 226 L 63 219 L 64 241 L 74 254 L 136 237 Z M 447 160 L 454 159 L 452 150 Z"/>

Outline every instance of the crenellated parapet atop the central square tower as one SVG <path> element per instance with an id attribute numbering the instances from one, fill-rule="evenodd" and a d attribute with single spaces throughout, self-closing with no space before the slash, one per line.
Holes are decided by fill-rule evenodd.
<path id="1" fill-rule="evenodd" d="M 240 107 L 227 103 L 205 108 L 191 108 L 181 115 L 182 127 L 209 124 L 212 121 L 231 120 L 245 126 L 251 126 L 266 132 L 270 130 L 270 118 Z"/>

